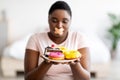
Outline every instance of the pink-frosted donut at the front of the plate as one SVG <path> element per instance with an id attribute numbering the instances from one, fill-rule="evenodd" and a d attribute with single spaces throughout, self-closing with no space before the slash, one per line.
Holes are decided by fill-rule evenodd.
<path id="1" fill-rule="evenodd" d="M 63 60 L 64 54 L 62 52 L 50 52 L 49 58 L 53 60 Z"/>

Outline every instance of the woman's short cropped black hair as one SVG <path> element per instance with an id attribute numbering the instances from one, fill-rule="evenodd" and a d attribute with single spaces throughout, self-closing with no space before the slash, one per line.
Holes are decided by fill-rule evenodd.
<path id="1" fill-rule="evenodd" d="M 62 9 L 62 10 L 66 10 L 68 12 L 68 14 L 72 17 L 72 12 L 70 9 L 70 6 L 64 2 L 64 1 L 56 1 L 51 8 L 49 9 L 49 15 L 52 14 L 55 10 L 57 9 Z"/>

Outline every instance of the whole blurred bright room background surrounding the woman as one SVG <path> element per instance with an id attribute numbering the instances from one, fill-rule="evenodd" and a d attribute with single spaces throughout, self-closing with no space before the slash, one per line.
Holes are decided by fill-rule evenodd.
<path id="1" fill-rule="evenodd" d="M 0 0 L 0 80 L 24 80 L 27 40 L 48 30 L 48 10 L 55 1 Z M 92 79 L 120 80 L 120 0 L 64 1 L 72 9 L 70 29 L 87 36 Z"/>

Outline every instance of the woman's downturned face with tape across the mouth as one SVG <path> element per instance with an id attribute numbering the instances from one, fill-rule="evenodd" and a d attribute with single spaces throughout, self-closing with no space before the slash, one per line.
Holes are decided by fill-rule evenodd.
<path id="1" fill-rule="evenodd" d="M 50 33 L 54 37 L 66 36 L 71 23 L 71 17 L 66 10 L 55 10 L 49 15 Z"/>

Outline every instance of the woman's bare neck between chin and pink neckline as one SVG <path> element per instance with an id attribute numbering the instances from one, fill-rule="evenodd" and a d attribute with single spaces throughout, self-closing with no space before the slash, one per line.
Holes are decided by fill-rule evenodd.
<path id="1" fill-rule="evenodd" d="M 50 32 L 48 32 L 48 36 L 54 43 L 61 44 L 62 42 L 64 42 L 67 39 L 68 32 L 66 35 L 61 36 L 61 37 L 55 37 Z"/>

